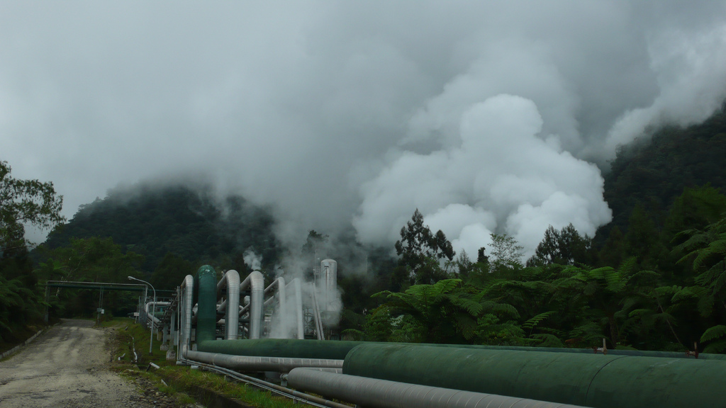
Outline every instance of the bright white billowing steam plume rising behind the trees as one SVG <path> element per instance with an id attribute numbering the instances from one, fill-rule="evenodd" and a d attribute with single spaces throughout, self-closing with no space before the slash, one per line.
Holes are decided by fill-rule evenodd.
<path id="1" fill-rule="evenodd" d="M 501 94 L 475 103 L 446 123 L 458 140 L 429 154 L 401 152 L 362 187 L 354 221 L 364 242 L 396 240 L 418 208 L 454 250 L 476 250 L 491 232 L 521 242 L 526 256 L 549 225 L 572 223 L 583 234 L 610 221 L 603 179 L 594 165 L 538 137 L 542 116 L 529 99 Z"/>

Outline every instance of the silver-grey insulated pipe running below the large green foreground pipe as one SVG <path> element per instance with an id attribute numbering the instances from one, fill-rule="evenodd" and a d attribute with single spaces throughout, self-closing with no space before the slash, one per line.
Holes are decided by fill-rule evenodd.
<path id="1" fill-rule="evenodd" d="M 294 368 L 286 379 L 287 385 L 298 390 L 372 408 L 582 408 L 579 405 L 396 383 L 307 368 Z"/>

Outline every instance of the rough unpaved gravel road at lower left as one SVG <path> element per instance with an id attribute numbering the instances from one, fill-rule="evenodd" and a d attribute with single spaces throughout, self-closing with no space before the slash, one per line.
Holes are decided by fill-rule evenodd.
<path id="1" fill-rule="evenodd" d="M 108 370 L 108 335 L 64 319 L 0 362 L 0 407 L 152 407 Z"/>

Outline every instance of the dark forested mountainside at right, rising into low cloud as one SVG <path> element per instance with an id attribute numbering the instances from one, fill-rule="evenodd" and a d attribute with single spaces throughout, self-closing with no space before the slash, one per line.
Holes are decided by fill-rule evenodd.
<path id="1" fill-rule="evenodd" d="M 600 242 L 613 227 L 627 230 L 640 204 L 658 227 L 686 187 L 726 192 L 726 105 L 711 118 L 686 128 L 665 126 L 621 147 L 605 172 L 605 200 L 613 221 L 599 232 Z"/>

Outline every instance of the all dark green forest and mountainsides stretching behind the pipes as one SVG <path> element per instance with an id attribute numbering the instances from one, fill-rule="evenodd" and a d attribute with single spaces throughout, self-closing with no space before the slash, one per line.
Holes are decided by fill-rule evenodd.
<path id="1" fill-rule="evenodd" d="M 454 254 L 417 211 L 395 248 L 363 248 L 354 234 L 333 245 L 311 231 L 303 248 L 284 250 L 304 264 L 316 256 L 338 260 L 339 329 L 351 338 L 573 347 L 606 338 L 608 347 L 686 350 L 697 342 L 702 351 L 723 351 L 724 157 L 726 110 L 696 126 L 655 131 L 623 148 L 605 174 L 613 222 L 595 237 L 550 228 L 526 262 L 506 235 L 493 235 L 476 258 Z M 126 282 L 130 275 L 162 289 L 200 264 L 245 273 L 245 257 L 254 253 L 274 274 L 282 262 L 269 209 L 181 185 L 115 189 L 30 253 L 17 220 L 62 222 L 60 197 L 52 184 L 17 181 L 7 163 L 3 168 L 2 338 L 41 317 L 45 280 Z M 88 315 L 95 296 L 55 291 L 49 306 L 56 315 Z M 107 304 L 131 304 L 134 295 L 108 296 Z"/>

